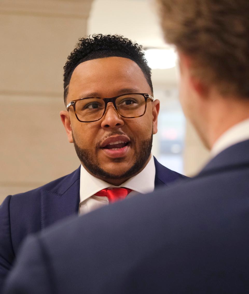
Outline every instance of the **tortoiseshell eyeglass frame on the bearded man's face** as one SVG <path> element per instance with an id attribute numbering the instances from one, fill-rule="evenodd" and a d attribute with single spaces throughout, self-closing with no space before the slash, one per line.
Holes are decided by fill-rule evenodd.
<path id="1" fill-rule="evenodd" d="M 116 99 L 118 97 L 121 97 L 121 96 L 126 96 L 126 95 L 132 95 L 132 94 L 135 94 L 135 95 L 143 95 L 144 99 L 145 99 L 145 108 L 144 108 L 144 112 L 143 114 L 139 115 L 139 116 L 132 116 L 132 117 L 127 117 L 127 116 L 123 116 L 121 113 L 118 112 L 118 108 L 116 106 Z M 78 119 L 78 121 L 80 121 L 81 123 L 93 123 L 94 121 L 81 121 L 77 114 L 76 114 L 76 109 L 75 109 L 75 104 L 77 101 L 80 101 L 80 100 L 84 100 L 84 99 L 89 99 L 89 98 L 96 98 L 96 99 L 102 99 L 104 100 L 105 102 L 105 108 L 104 108 L 104 111 L 103 111 L 103 114 L 101 116 L 101 118 L 104 116 L 104 114 L 106 113 L 106 108 L 107 108 L 107 103 L 109 102 L 112 102 L 113 103 L 113 106 L 115 108 L 115 110 L 117 111 L 117 113 L 124 117 L 124 118 L 137 118 L 137 117 L 140 117 L 140 116 L 143 116 L 146 112 L 146 107 L 147 107 L 147 100 L 150 99 L 151 101 L 154 100 L 154 98 L 150 95 L 150 94 L 146 94 L 146 93 L 127 93 L 127 94 L 122 94 L 122 95 L 118 95 L 118 96 L 115 96 L 115 97 L 112 97 L 112 98 L 101 98 L 101 97 L 86 97 L 86 98 L 81 98 L 81 99 L 77 99 L 77 100 L 73 100 L 71 102 L 68 103 L 68 105 L 66 106 L 66 110 L 69 111 L 69 107 L 70 106 L 73 106 L 73 110 L 74 110 L 74 114 L 76 116 L 76 118 Z M 96 119 L 95 121 L 99 121 L 101 118 L 98 118 Z"/>

